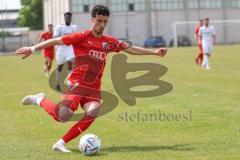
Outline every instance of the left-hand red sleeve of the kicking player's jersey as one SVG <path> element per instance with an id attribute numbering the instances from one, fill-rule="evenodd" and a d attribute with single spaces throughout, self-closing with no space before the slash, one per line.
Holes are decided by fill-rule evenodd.
<path id="1" fill-rule="evenodd" d="M 62 36 L 62 41 L 65 45 L 73 45 L 73 44 L 78 44 L 84 39 L 84 33 L 71 33 L 65 36 Z"/>

